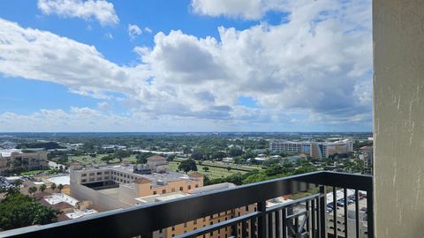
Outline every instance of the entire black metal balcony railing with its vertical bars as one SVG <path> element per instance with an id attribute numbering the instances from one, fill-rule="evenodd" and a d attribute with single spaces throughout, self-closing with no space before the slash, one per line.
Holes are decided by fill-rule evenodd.
<path id="1" fill-rule="evenodd" d="M 315 188 L 315 189 L 314 189 Z M 307 197 L 267 206 L 275 197 L 316 190 Z M 348 195 L 348 191 L 351 195 Z M 360 191 L 367 194 L 366 216 L 360 219 Z M 342 193 L 342 198 L 337 197 Z M 332 207 L 328 194 L 333 194 Z M 353 194 L 352 194 L 353 193 Z M 351 199 L 351 198 L 352 199 Z M 348 205 L 354 207 L 349 218 Z M 45 226 L 14 229 L 1 237 L 153 237 L 157 231 L 220 212 L 254 205 L 254 211 L 176 237 L 212 237 L 228 228 L 228 237 L 374 237 L 373 179 L 367 175 L 314 172 L 256 182 L 232 189 L 182 197 L 166 202 L 101 212 Z M 339 207 L 339 208 L 337 208 Z M 363 209 L 361 209 L 363 210 Z M 343 214 L 342 214 L 343 213 Z M 366 231 L 360 223 L 366 220 Z M 348 224 L 353 224 L 352 226 Z M 342 226 L 343 225 L 343 226 Z M 341 228 L 343 227 L 343 228 Z M 206 234 L 206 236 L 203 236 Z M 224 237 L 224 236 L 222 236 Z"/>

